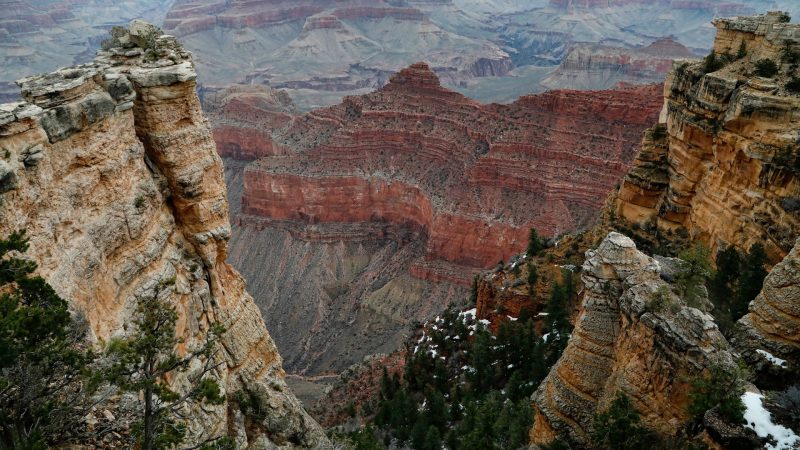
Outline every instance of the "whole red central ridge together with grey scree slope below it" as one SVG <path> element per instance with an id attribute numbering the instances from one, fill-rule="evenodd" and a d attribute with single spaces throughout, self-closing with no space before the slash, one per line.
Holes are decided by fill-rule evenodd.
<path id="1" fill-rule="evenodd" d="M 523 250 L 531 227 L 590 225 L 660 91 L 485 105 L 419 63 L 303 116 L 275 91 L 216 97 L 206 109 L 226 161 L 230 261 L 288 370 L 334 375 L 390 353 L 409 324 L 466 301 L 472 278 Z"/>

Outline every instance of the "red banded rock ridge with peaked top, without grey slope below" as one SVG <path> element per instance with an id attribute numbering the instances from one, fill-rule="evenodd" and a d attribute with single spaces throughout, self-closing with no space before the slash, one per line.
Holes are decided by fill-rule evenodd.
<path id="1" fill-rule="evenodd" d="M 415 64 L 275 133 L 285 154 L 247 168 L 242 211 L 409 225 L 427 236 L 426 260 L 486 267 L 521 251 L 530 227 L 555 235 L 590 223 L 657 117 L 659 93 L 556 91 L 481 105 Z M 417 274 L 437 272 L 428 269 Z"/>

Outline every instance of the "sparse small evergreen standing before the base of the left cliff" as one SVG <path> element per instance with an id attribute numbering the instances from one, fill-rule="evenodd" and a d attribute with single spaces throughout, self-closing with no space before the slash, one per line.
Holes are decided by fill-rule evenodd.
<path id="1" fill-rule="evenodd" d="M 221 404 L 217 382 L 211 372 L 219 336 L 224 332 L 215 325 L 208 339 L 199 349 L 180 357 L 175 347 L 181 341 L 175 336 L 178 313 L 168 299 L 173 291 L 174 279 L 159 283 L 152 296 L 140 299 L 136 305 L 133 332 L 125 339 L 113 340 L 108 355 L 113 361 L 109 376 L 121 390 L 137 393 L 142 410 L 134 427 L 138 446 L 143 450 L 172 448 L 183 441 L 185 426 L 177 420 L 178 410 L 188 402 Z M 167 384 L 199 359 L 204 367 L 190 377 L 191 387 L 181 394 Z"/>

